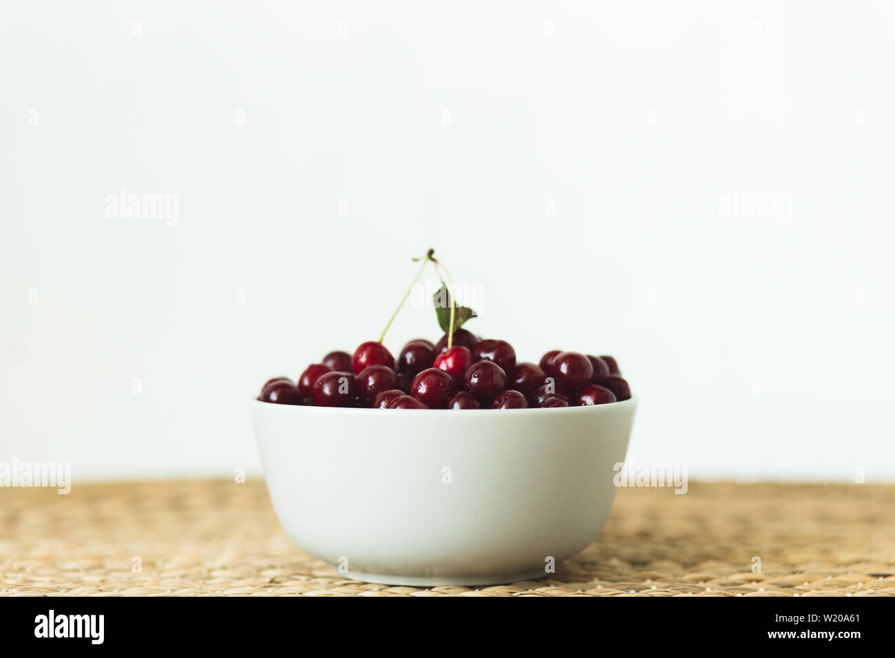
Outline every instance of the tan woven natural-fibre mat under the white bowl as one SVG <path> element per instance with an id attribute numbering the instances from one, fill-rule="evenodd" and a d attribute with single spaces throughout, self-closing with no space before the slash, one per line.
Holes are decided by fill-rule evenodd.
<path id="1" fill-rule="evenodd" d="M 556 574 L 427 589 L 340 577 L 289 540 L 264 483 L 0 489 L 0 594 L 891 596 L 893 514 L 892 485 L 621 489 L 600 538 Z"/>

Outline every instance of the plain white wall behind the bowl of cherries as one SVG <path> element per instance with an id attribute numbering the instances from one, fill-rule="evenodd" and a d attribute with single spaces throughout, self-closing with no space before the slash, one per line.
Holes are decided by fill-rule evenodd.
<path id="1" fill-rule="evenodd" d="M 618 358 L 632 460 L 895 479 L 893 62 L 884 2 L 4 0 L 0 461 L 258 473 L 260 384 L 434 247 L 520 360 Z"/>

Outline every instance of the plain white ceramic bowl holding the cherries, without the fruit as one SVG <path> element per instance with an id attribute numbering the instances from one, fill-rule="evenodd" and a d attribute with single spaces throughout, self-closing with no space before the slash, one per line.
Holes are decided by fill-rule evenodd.
<path id="1" fill-rule="evenodd" d="M 358 580 L 480 585 L 542 577 L 600 534 L 635 408 L 251 412 L 303 549 Z"/>

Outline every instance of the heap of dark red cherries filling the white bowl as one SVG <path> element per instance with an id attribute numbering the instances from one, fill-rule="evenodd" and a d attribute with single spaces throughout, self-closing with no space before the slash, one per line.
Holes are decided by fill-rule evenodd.
<path id="1" fill-rule="evenodd" d="M 631 397 L 611 356 L 552 350 L 541 363 L 516 363 L 505 340 L 457 329 L 432 345 L 412 340 L 397 360 L 378 342 L 354 352 L 330 352 L 311 363 L 298 383 L 268 380 L 260 400 L 280 405 L 365 406 L 379 409 L 522 409 L 604 405 Z"/>

